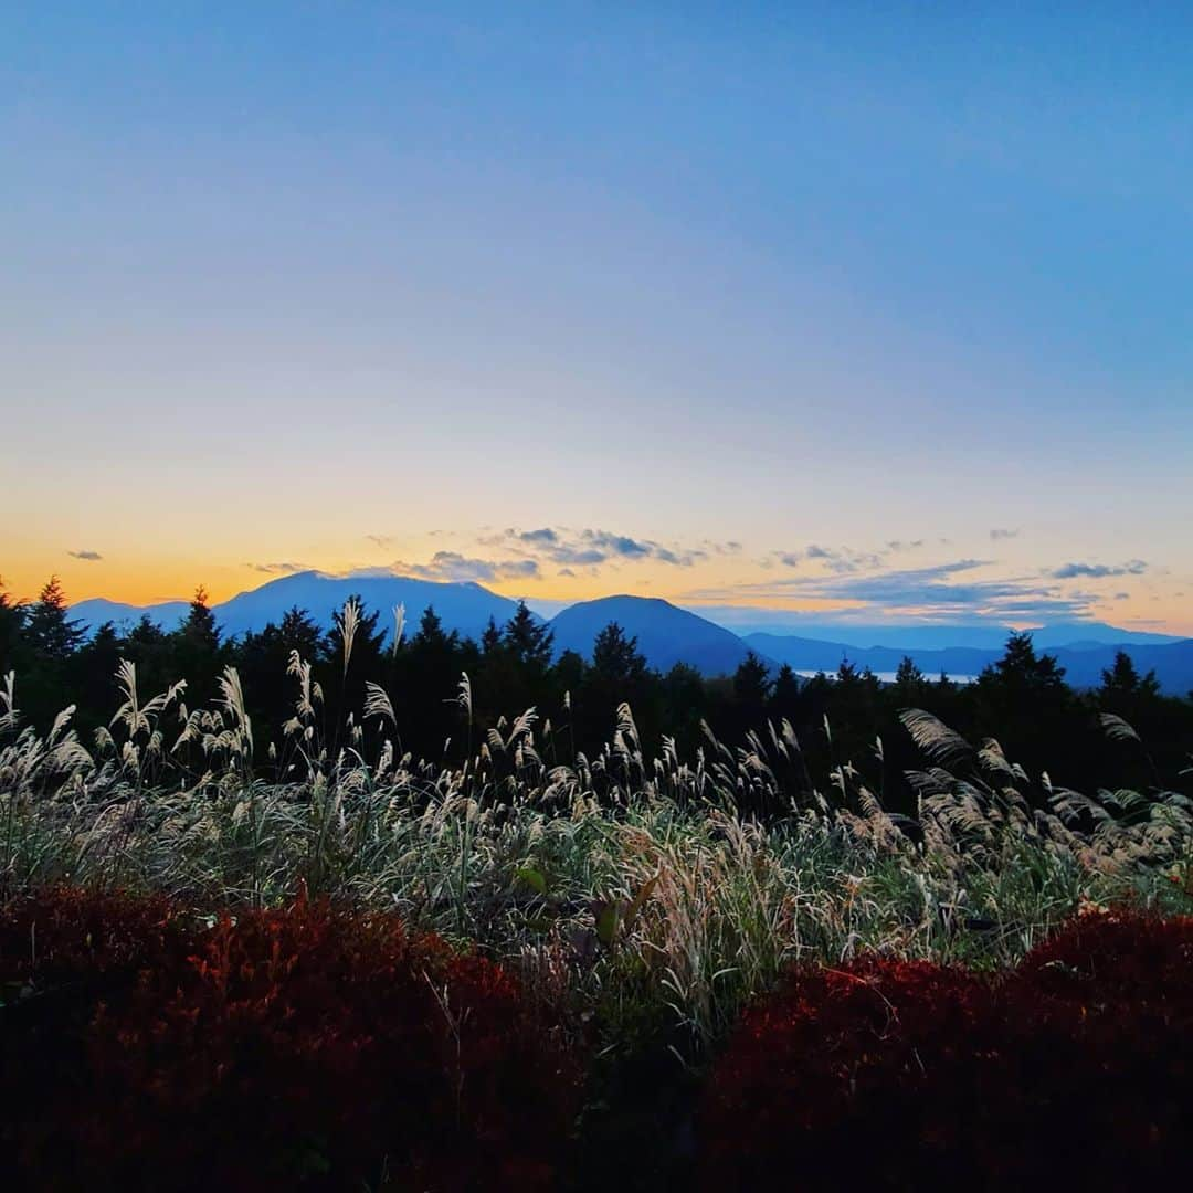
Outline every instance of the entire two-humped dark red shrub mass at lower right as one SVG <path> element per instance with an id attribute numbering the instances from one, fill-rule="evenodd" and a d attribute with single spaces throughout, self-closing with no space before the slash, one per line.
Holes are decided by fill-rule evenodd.
<path id="1" fill-rule="evenodd" d="M 795 973 L 711 1076 L 709 1189 L 1123 1189 L 1193 1174 L 1193 921 L 1083 917 L 1000 982 Z"/>

